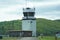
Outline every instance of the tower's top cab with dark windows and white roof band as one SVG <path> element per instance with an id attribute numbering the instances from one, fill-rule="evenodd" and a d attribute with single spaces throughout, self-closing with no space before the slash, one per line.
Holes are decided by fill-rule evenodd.
<path id="1" fill-rule="evenodd" d="M 23 19 L 35 19 L 35 8 L 23 8 Z"/>

